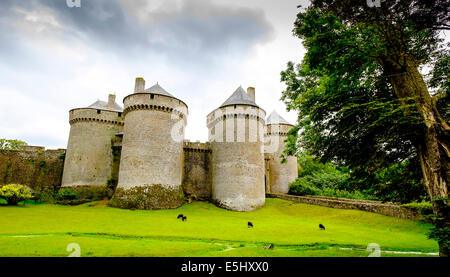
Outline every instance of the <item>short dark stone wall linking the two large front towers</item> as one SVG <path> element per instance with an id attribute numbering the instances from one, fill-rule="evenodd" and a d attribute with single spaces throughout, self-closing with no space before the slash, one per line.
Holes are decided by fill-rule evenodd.
<path id="1" fill-rule="evenodd" d="M 188 198 L 211 198 L 211 147 L 209 143 L 184 142 L 183 191 Z"/>

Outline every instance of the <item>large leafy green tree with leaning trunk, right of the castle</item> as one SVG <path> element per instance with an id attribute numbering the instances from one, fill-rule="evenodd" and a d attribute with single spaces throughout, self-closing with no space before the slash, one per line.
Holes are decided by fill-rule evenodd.
<path id="1" fill-rule="evenodd" d="M 285 153 L 300 146 L 353 176 L 420 164 L 435 225 L 450 232 L 448 1 L 313 0 L 294 35 L 307 53 L 281 72 L 282 100 L 299 113 Z M 429 69 L 429 74 L 421 73 Z M 438 240 L 440 254 L 448 244 Z"/>

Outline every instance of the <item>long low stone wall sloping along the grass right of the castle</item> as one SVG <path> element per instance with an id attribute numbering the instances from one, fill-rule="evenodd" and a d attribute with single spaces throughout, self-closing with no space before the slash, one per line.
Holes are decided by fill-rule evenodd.
<path id="1" fill-rule="evenodd" d="M 291 200 L 294 202 L 319 205 L 330 208 L 355 209 L 415 221 L 422 220 L 422 217 L 418 212 L 392 203 L 326 196 L 297 196 L 281 193 L 268 193 L 266 194 L 266 196 L 268 198 L 280 198 L 284 200 Z"/>

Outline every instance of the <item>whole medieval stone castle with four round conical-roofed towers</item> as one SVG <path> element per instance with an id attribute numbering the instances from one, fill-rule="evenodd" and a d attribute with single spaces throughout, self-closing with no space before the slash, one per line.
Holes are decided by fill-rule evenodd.
<path id="1" fill-rule="evenodd" d="M 297 178 L 296 157 L 280 158 L 293 126 L 275 111 L 266 119 L 252 87 L 239 87 L 207 115 L 206 143 L 184 140 L 188 106 L 159 84 L 145 89 L 136 78 L 123 105 L 110 94 L 108 102 L 70 110 L 62 187 L 110 189 L 110 204 L 121 208 L 201 199 L 251 211 Z"/>

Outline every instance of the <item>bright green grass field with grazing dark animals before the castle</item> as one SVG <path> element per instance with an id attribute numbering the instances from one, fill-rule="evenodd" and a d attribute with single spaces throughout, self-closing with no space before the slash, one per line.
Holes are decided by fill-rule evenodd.
<path id="1" fill-rule="evenodd" d="M 187 221 L 177 220 L 178 214 Z M 254 228 L 247 228 L 247 222 Z M 318 228 L 319 223 L 326 230 Z M 357 210 L 267 199 L 264 208 L 232 212 L 204 202 L 175 210 L 122 210 L 105 202 L 80 206 L 0 207 L 0 256 L 68 256 L 77 243 L 90 256 L 367 257 L 428 256 L 438 246 L 430 225 Z M 266 249 L 270 244 L 273 249 Z M 396 253 L 396 252 L 421 252 Z"/>

